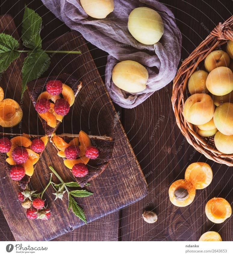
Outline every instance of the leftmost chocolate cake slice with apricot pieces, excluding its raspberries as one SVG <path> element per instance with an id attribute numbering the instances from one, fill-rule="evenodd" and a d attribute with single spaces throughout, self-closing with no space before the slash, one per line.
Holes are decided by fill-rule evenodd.
<path id="1" fill-rule="evenodd" d="M 2 138 L 8 138 L 11 142 L 11 148 L 7 153 L 1 153 L 0 152 L 0 162 L 4 169 L 8 172 L 10 175 L 11 168 L 14 166 L 22 166 L 25 170 L 25 175 L 20 180 L 14 180 L 20 188 L 23 190 L 26 189 L 26 186 L 28 182 L 30 181 L 31 176 L 33 175 L 33 172 L 36 168 L 36 163 L 38 162 L 41 154 L 43 153 L 43 150 L 46 147 L 46 144 L 48 142 L 48 136 L 43 135 L 29 135 L 29 134 L 7 134 L 7 133 L 0 133 L 0 139 Z M 41 152 L 36 153 L 33 151 L 32 141 L 34 139 L 41 139 L 44 143 L 44 148 L 40 149 Z M 41 143 L 41 141 L 40 141 Z M 42 143 L 42 144 L 43 144 Z M 33 143 L 34 144 L 34 143 Z M 31 147 L 32 146 L 32 147 Z M 35 146 L 35 144 L 34 144 Z M 23 147 L 26 149 L 28 153 L 28 159 L 25 163 L 15 163 L 12 157 L 12 151 L 16 147 Z M 38 150 L 38 148 L 37 148 Z"/>

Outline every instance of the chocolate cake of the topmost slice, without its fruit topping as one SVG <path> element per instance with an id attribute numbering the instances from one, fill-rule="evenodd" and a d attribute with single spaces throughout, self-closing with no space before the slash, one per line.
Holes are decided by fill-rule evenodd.
<path id="1" fill-rule="evenodd" d="M 42 92 L 46 91 L 46 83 L 50 80 L 59 80 L 63 84 L 68 85 L 74 92 L 74 96 L 78 95 L 80 90 L 82 89 L 82 82 L 79 81 L 76 77 L 70 75 L 70 74 L 60 74 L 58 76 L 50 76 L 50 77 L 44 77 L 37 80 L 33 80 L 29 83 L 27 83 L 27 91 L 29 93 L 29 96 L 32 100 L 33 106 L 35 107 L 37 99 L 39 95 Z M 45 134 L 48 136 L 51 136 L 54 132 L 56 132 L 58 126 L 60 125 L 60 121 L 57 120 L 56 127 L 51 127 L 48 125 L 48 123 L 39 115 L 39 119 L 42 122 L 43 128 L 45 130 Z"/>

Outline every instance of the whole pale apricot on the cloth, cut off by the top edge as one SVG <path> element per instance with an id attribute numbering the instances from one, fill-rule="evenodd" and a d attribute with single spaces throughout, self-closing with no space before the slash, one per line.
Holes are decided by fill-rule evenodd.
<path id="1" fill-rule="evenodd" d="M 114 9 L 113 0 L 80 0 L 84 11 L 92 18 L 104 19 Z"/>

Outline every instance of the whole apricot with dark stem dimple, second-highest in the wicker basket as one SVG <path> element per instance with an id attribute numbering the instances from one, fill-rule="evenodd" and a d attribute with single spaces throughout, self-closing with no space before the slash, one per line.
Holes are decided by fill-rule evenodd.
<path id="1" fill-rule="evenodd" d="M 229 55 L 221 50 L 210 52 L 205 58 L 205 69 L 210 72 L 217 67 L 228 67 L 230 64 Z"/>

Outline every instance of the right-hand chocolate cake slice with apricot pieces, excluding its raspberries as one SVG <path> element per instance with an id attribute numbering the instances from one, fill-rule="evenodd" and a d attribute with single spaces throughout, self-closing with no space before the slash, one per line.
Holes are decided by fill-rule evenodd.
<path id="1" fill-rule="evenodd" d="M 87 167 L 88 173 L 84 177 L 73 175 L 81 188 L 104 171 L 113 154 L 114 141 L 111 137 L 88 135 L 84 131 L 80 131 L 79 134 L 54 134 L 50 141 L 57 149 L 57 155 L 63 158 L 64 165 L 71 172 L 73 166 L 77 163 L 84 163 Z M 70 145 L 78 146 L 80 149 L 79 156 L 75 160 L 67 159 L 64 154 L 64 150 Z M 96 159 L 90 159 L 85 156 L 85 151 L 90 146 L 95 146 L 99 151 Z"/>

